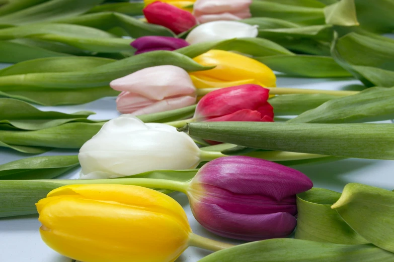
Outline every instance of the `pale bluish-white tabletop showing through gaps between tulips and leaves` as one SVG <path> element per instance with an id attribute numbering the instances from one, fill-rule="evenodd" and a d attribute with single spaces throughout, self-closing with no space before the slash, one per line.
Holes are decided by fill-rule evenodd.
<path id="1" fill-rule="evenodd" d="M 353 79 L 303 79 L 303 78 L 278 78 L 278 86 L 332 89 L 332 90 L 362 90 L 363 86 Z M 37 106 L 41 110 L 56 110 L 72 113 L 80 110 L 91 110 L 97 112 L 92 119 L 109 119 L 116 117 L 114 98 L 103 98 L 95 102 L 75 106 L 43 107 Z M 387 121 L 390 122 L 390 121 Z M 56 150 L 43 155 L 70 155 L 77 154 L 77 150 Z M 0 148 L 0 164 L 30 155 L 17 153 L 13 150 Z M 392 190 L 394 188 L 394 161 L 383 160 L 363 160 L 347 159 L 333 163 L 298 167 L 298 170 L 305 173 L 313 181 L 315 187 L 324 187 L 335 191 L 342 191 L 349 182 L 359 182 L 367 185 L 382 187 Z M 69 172 L 62 178 L 76 178 L 79 170 Z M 193 231 L 202 236 L 232 242 L 234 244 L 241 241 L 229 240 L 217 237 L 202 228 L 190 211 L 187 197 L 181 193 L 174 193 L 172 196 L 182 204 L 188 215 Z M 70 262 L 71 259 L 57 254 L 47 247 L 41 240 L 37 221 L 38 215 L 22 216 L 15 218 L 0 218 L 0 262 Z M 199 248 L 189 247 L 177 260 L 178 262 L 194 262 L 209 254 L 209 251 Z M 110 262 L 110 261 L 108 261 Z"/>

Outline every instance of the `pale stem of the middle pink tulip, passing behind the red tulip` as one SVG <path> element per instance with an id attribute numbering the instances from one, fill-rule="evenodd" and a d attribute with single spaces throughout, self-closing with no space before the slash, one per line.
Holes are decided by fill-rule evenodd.
<path id="1" fill-rule="evenodd" d="M 335 90 L 319 90 L 319 89 L 300 89 L 300 88 L 286 88 L 286 87 L 264 87 L 270 89 L 271 95 L 281 94 L 331 94 L 338 96 L 348 96 L 359 93 L 359 91 L 335 91 Z M 221 88 L 199 88 L 197 89 L 197 95 L 203 96 L 212 91 Z"/>

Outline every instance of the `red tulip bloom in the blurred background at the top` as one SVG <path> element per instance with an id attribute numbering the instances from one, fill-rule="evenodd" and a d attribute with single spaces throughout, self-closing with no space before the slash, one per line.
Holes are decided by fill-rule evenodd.
<path id="1" fill-rule="evenodd" d="M 187 11 L 162 2 L 154 2 L 143 9 L 150 24 L 161 25 L 180 34 L 197 24 L 195 17 Z"/>

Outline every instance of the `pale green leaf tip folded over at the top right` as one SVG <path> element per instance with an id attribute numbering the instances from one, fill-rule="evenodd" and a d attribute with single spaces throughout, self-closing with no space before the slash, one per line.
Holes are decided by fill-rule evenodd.
<path id="1" fill-rule="evenodd" d="M 324 9 L 326 24 L 336 26 L 359 26 L 357 21 L 355 0 L 341 0 Z"/>

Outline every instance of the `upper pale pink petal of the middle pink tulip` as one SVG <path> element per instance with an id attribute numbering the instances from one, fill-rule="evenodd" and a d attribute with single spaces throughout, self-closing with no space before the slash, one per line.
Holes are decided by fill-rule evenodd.
<path id="1" fill-rule="evenodd" d="M 177 66 L 144 68 L 110 83 L 118 91 L 129 91 L 152 100 L 176 95 L 195 96 L 195 87 L 188 73 Z"/>

